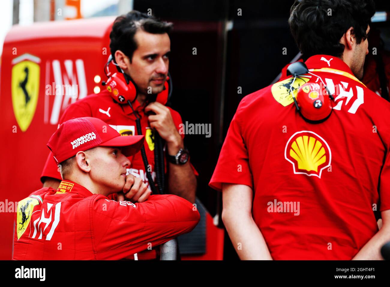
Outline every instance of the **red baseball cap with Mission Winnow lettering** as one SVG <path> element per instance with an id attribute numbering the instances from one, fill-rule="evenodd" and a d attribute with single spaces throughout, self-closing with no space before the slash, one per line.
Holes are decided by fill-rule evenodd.
<path id="1" fill-rule="evenodd" d="M 143 135 L 121 136 L 101 119 L 83 117 L 62 123 L 50 137 L 47 146 L 58 164 L 96 146 L 122 146 L 122 153 L 129 157 L 137 153 L 143 144 Z"/>

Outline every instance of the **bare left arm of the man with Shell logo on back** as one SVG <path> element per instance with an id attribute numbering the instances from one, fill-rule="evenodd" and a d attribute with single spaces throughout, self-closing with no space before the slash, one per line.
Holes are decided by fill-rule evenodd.
<path id="1" fill-rule="evenodd" d="M 241 260 L 272 260 L 252 217 L 252 189 L 243 184 L 222 185 L 222 221 Z"/>

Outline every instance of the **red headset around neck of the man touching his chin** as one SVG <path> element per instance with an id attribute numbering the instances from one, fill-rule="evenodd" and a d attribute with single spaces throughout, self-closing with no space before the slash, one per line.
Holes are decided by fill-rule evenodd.
<path id="1" fill-rule="evenodd" d="M 134 106 L 135 100 L 138 95 L 138 87 L 131 77 L 126 75 L 121 69 L 121 72 L 111 73 L 108 69 L 108 66 L 112 62 L 114 65 L 118 66 L 112 60 L 112 55 L 108 57 L 108 61 L 105 65 L 104 72 L 108 78 L 105 82 L 102 82 L 103 86 L 107 87 L 107 90 L 110 92 L 112 98 L 121 104 L 127 104 L 128 102 L 132 103 Z M 168 84 L 169 81 L 169 84 Z M 170 74 L 168 73 L 167 80 L 164 83 L 164 89 L 161 93 L 158 93 L 156 96 L 156 102 L 166 105 L 170 96 L 172 94 L 172 80 Z"/>

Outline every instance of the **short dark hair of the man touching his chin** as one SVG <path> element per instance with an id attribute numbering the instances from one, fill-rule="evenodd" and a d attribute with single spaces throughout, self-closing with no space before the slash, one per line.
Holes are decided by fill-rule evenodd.
<path id="1" fill-rule="evenodd" d="M 172 30 L 173 24 L 160 21 L 154 16 L 148 16 L 139 11 L 130 11 L 127 14 L 118 16 L 110 33 L 110 51 L 115 61 L 115 52 L 121 50 L 129 57 L 130 62 L 133 53 L 137 50 L 137 42 L 134 35 L 138 29 L 152 34 L 164 34 Z"/>

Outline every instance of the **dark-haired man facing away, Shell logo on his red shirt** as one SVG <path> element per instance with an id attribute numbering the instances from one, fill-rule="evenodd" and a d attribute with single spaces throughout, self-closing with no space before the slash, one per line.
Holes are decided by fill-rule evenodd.
<path id="1" fill-rule="evenodd" d="M 305 62 L 241 100 L 209 183 L 241 259 L 383 259 L 390 103 L 360 82 L 374 12 L 372 0 L 291 7 Z"/>

